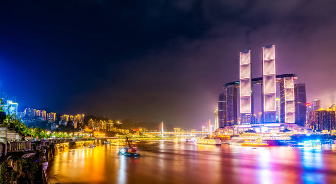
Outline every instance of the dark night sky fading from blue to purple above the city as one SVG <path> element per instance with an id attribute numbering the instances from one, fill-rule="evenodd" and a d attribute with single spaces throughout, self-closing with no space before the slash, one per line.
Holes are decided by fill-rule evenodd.
<path id="1" fill-rule="evenodd" d="M 0 90 L 60 114 L 200 128 L 239 80 L 240 51 L 262 76 L 298 74 L 307 100 L 336 95 L 335 1 L 2 1 Z M 278 86 L 277 86 L 278 87 Z M 260 90 L 256 89 L 260 94 Z M 255 94 L 255 111 L 260 111 Z"/>

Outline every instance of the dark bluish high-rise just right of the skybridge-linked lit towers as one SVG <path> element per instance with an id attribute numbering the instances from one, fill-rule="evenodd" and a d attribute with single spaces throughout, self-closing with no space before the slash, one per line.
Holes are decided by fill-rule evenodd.
<path id="1" fill-rule="evenodd" d="M 306 85 L 294 85 L 295 96 L 295 123 L 300 126 L 307 124 L 307 100 L 306 100 Z"/>

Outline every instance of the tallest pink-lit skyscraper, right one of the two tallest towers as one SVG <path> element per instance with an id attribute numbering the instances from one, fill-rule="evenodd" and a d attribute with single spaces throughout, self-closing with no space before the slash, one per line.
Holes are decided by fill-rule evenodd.
<path id="1" fill-rule="evenodd" d="M 263 47 L 263 87 L 262 87 L 263 123 L 275 122 L 275 48 Z"/>

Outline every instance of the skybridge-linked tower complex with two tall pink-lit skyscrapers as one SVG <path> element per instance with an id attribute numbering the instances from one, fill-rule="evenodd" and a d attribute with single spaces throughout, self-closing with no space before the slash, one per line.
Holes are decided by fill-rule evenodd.
<path id="1" fill-rule="evenodd" d="M 253 113 L 253 86 L 262 87 L 262 113 L 258 123 L 294 123 L 294 80 L 296 74 L 275 75 L 275 47 L 263 47 L 263 77 L 251 78 L 251 51 L 239 53 L 239 82 L 227 83 L 219 105 L 220 126 L 237 124 L 237 88 L 240 100 L 240 124 L 256 122 Z M 276 82 L 280 85 L 281 99 L 276 99 Z M 221 103 L 221 101 L 219 101 Z M 221 109 L 222 108 L 222 109 Z M 220 110 L 223 116 L 220 117 Z"/>

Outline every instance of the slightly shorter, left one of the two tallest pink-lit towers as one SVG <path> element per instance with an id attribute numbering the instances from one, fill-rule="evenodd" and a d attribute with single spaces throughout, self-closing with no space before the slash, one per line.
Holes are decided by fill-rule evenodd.
<path id="1" fill-rule="evenodd" d="M 239 53 L 240 124 L 251 124 L 253 114 L 251 51 Z"/>

